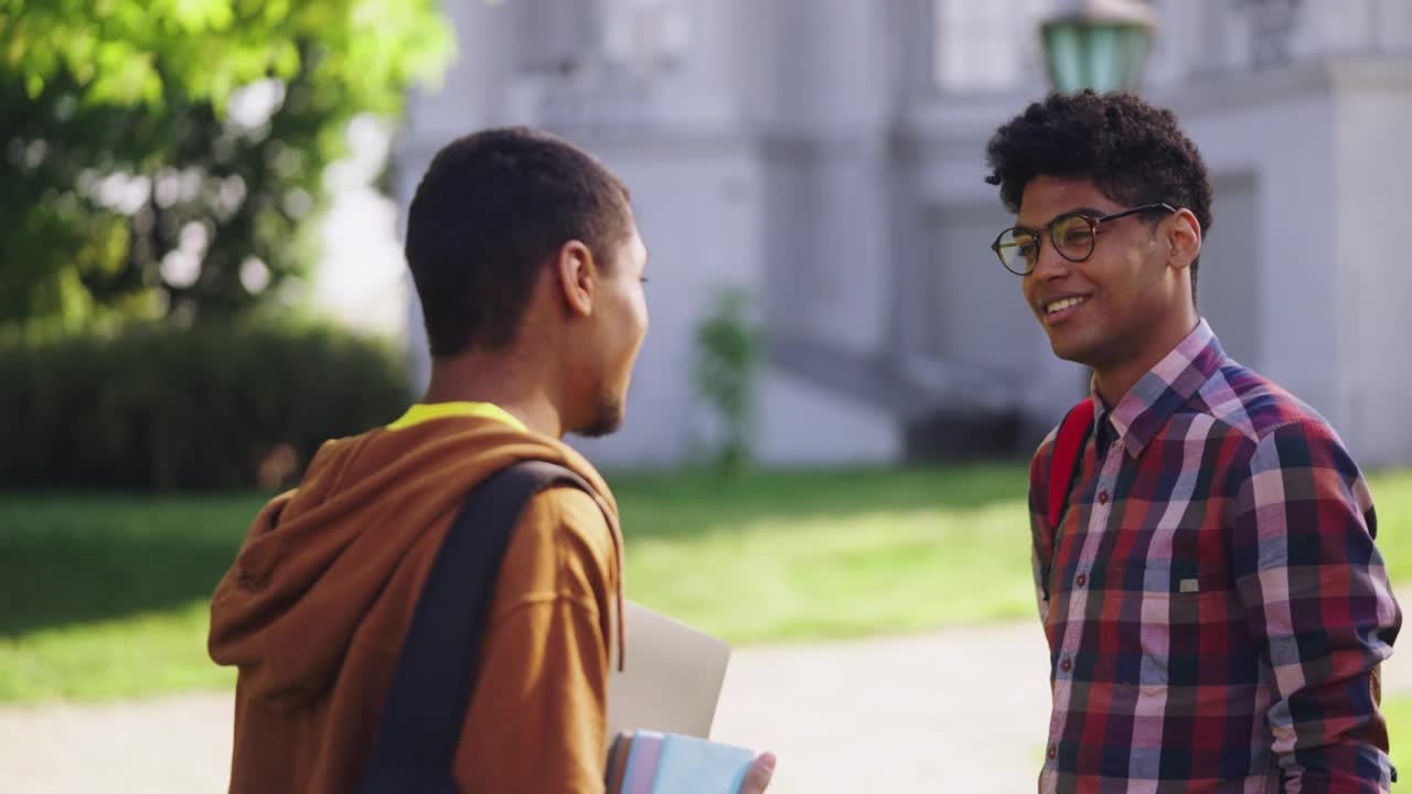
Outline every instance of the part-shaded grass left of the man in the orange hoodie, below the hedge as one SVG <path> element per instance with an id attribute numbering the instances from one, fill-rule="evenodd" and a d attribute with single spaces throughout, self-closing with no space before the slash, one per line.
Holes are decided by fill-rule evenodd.
<path id="1" fill-rule="evenodd" d="M 202 600 L 261 502 L 0 497 L 0 701 L 227 685 Z"/>

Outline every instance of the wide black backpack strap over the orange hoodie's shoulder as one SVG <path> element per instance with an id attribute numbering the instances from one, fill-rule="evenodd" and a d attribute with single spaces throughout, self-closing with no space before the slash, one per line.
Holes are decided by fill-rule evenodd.
<path id="1" fill-rule="evenodd" d="M 472 490 L 417 600 L 360 794 L 455 794 L 450 769 L 500 564 L 525 504 L 552 486 L 594 493 L 579 475 L 545 461 L 514 463 Z"/>

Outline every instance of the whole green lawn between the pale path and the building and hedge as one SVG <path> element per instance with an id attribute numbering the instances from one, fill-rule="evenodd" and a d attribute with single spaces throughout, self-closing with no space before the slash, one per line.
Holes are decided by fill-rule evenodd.
<path id="1" fill-rule="evenodd" d="M 628 596 L 733 643 L 1034 615 L 1022 466 L 613 482 Z M 1412 472 L 1372 490 L 1412 582 Z M 205 599 L 261 502 L 0 496 L 0 702 L 230 685 Z"/>

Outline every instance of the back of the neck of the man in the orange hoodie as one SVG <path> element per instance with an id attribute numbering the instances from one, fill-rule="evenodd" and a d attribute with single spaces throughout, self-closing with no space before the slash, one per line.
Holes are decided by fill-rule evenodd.
<path id="1" fill-rule="evenodd" d="M 422 403 L 493 403 L 534 432 L 563 438 L 559 396 L 534 356 L 467 352 L 432 362 Z"/>

